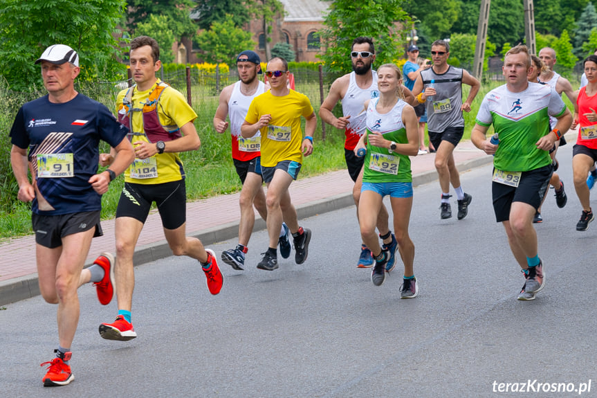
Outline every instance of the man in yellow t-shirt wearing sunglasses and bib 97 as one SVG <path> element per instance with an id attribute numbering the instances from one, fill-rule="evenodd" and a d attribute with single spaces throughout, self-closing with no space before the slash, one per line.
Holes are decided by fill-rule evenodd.
<path id="1" fill-rule="evenodd" d="M 282 221 L 286 222 L 294 238 L 295 262 L 302 264 L 309 254 L 311 230 L 299 226 L 288 187 L 297 179 L 302 156 L 313 152 L 317 117 L 309 98 L 288 88 L 288 62 L 284 58 L 272 58 L 266 75 L 271 89 L 252 100 L 241 125 L 241 134 L 243 138 L 250 138 L 261 132 L 261 173 L 268 186 L 269 246 L 257 268 L 273 271 L 278 267 L 276 247 Z M 306 120 L 304 138 L 301 116 Z"/>

